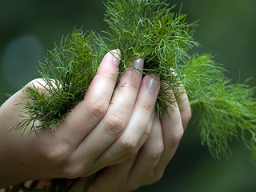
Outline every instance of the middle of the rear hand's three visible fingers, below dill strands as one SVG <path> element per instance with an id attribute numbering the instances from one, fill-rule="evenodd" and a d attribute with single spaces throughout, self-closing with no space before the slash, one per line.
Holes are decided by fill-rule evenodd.
<path id="1" fill-rule="evenodd" d="M 170 90 L 170 94 L 174 92 Z M 170 159 L 174 156 L 177 150 L 178 143 L 183 135 L 183 126 L 181 113 L 177 102 L 170 106 L 168 114 L 164 115 L 161 120 L 162 125 L 162 138 L 164 143 L 164 151 L 158 165 L 155 167 L 154 173 L 162 175 Z M 160 177 L 160 176 L 159 176 Z"/>

